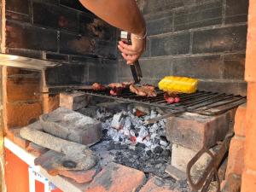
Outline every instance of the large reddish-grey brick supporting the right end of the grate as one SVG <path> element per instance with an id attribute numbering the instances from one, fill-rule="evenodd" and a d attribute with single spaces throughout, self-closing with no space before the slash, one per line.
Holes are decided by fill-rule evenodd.
<path id="1" fill-rule="evenodd" d="M 230 110 L 214 117 L 184 113 L 179 117 L 168 118 L 167 139 L 195 151 L 203 147 L 210 148 L 224 139 L 230 128 L 230 122 L 234 122 L 235 111 Z"/>

